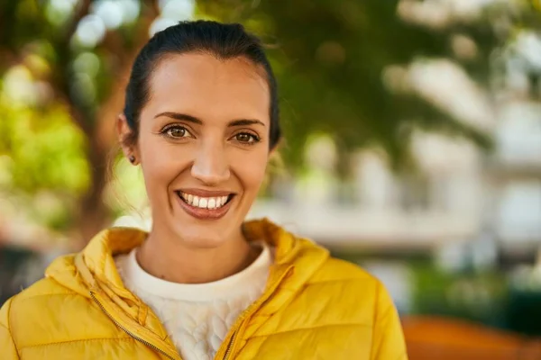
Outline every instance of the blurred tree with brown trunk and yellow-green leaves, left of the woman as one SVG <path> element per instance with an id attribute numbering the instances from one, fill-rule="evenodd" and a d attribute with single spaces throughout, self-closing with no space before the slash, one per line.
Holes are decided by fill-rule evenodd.
<path id="1" fill-rule="evenodd" d="M 153 2 L 111 4 L 90 0 L 0 4 L 3 107 L 11 110 L 0 124 L 11 130 L 0 134 L 0 155 L 9 155 L 15 164 L 12 172 L 18 169 L 15 173 L 19 174 L 10 182 L 8 193 L 65 193 L 76 201 L 60 220 L 47 225 L 77 229 L 82 238 L 96 233 L 110 216 L 102 194 L 107 159 L 115 144 L 115 116 L 122 111 L 133 58 L 148 40 L 151 22 L 159 13 Z M 108 22 L 96 15 L 99 12 Z M 22 84 L 27 86 L 14 95 L 13 90 Z M 58 121 L 62 116 L 76 126 Z M 53 122 L 58 126 L 52 126 Z M 35 146 L 36 136 L 44 129 L 51 130 L 42 142 L 59 151 Z M 72 140 L 80 138 L 78 134 L 82 142 Z M 80 151 L 69 157 L 74 146 Z M 66 171 L 59 172 L 59 167 Z M 48 174 L 54 172 L 58 174 L 51 179 Z M 75 177 L 76 184 L 66 186 L 66 176 Z"/>

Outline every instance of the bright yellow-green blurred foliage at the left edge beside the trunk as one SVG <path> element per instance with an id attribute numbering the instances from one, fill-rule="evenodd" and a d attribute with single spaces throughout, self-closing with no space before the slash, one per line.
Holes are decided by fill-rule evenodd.
<path id="1" fill-rule="evenodd" d="M 9 174 L 3 188 L 37 193 L 46 188 L 81 195 L 87 190 L 90 169 L 85 161 L 86 139 L 59 104 L 36 111 L 10 106 L 0 97 L 0 156 Z"/>

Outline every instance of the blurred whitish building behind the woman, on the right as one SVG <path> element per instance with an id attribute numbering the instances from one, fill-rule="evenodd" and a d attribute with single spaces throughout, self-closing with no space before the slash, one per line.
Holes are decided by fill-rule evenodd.
<path id="1" fill-rule="evenodd" d="M 251 216 L 267 216 L 331 248 L 441 250 L 453 262 L 464 260 L 456 249 L 462 244 L 479 263 L 494 260 L 496 248 L 535 254 L 541 104 L 508 99 L 491 114 L 491 153 L 417 131 L 411 148 L 418 169 L 394 174 L 383 155 L 363 150 L 354 157 L 352 184 L 338 182 L 335 148 L 318 139 L 307 150 L 309 174 L 275 184 L 275 196 L 257 203 Z"/>

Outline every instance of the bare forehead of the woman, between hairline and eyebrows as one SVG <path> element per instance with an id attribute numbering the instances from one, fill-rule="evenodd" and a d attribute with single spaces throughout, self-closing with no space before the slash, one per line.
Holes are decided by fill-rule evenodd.
<path id="1" fill-rule="evenodd" d="M 185 112 L 203 121 L 270 121 L 264 71 L 247 58 L 170 55 L 160 60 L 149 85 L 151 98 L 144 109 L 149 112 Z"/>

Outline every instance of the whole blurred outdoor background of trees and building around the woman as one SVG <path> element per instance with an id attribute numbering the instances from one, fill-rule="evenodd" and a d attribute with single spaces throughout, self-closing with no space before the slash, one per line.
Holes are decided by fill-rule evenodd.
<path id="1" fill-rule="evenodd" d="M 539 0 L 1 2 L 0 304 L 150 226 L 115 116 L 138 49 L 188 19 L 243 23 L 279 78 L 250 217 L 378 276 L 412 359 L 541 357 Z"/>

